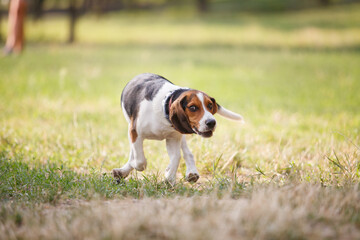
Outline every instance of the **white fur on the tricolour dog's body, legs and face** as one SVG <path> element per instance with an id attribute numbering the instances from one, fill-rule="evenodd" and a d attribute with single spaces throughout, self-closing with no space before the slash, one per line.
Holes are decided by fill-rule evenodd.
<path id="1" fill-rule="evenodd" d="M 183 156 L 186 163 L 186 178 L 189 181 L 196 181 L 199 178 L 198 170 L 195 166 L 194 156 L 189 150 L 186 144 L 185 135 L 182 135 L 176 131 L 171 123 L 165 118 L 164 112 L 164 99 L 176 89 L 181 87 L 165 83 L 153 98 L 152 101 L 143 100 L 139 106 L 139 112 L 136 120 L 136 132 L 138 134 L 136 141 L 132 142 L 129 133 L 130 142 L 130 154 L 128 162 L 122 168 L 116 168 L 113 172 L 116 172 L 118 176 L 126 177 L 135 168 L 138 171 L 143 171 L 146 168 L 147 161 L 144 155 L 143 142 L 145 139 L 163 140 L 166 139 L 166 149 L 170 157 L 170 163 L 165 171 L 165 178 L 168 182 L 174 184 L 176 181 L 176 172 L 179 166 L 181 158 L 180 149 L 183 152 Z M 205 111 L 203 117 L 199 122 L 199 132 L 208 131 L 206 126 L 206 120 L 214 119 L 214 116 L 207 110 L 204 104 L 204 94 L 198 93 L 198 98 L 202 103 L 202 107 Z M 126 114 L 124 105 L 122 109 L 126 120 L 130 127 L 130 118 Z M 221 116 L 233 119 L 242 120 L 242 117 L 236 113 L 233 113 L 221 106 L 219 106 L 218 113 Z"/>

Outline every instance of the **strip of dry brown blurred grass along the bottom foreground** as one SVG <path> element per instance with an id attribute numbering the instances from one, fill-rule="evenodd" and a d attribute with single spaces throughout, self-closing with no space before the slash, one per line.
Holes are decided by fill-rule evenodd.
<path id="1" fill-rule="evenodd" d="M 359 239 L 360 189 L 302 184 L 239 199 L 7 203 L 0 231 L 3 239 Z"/>

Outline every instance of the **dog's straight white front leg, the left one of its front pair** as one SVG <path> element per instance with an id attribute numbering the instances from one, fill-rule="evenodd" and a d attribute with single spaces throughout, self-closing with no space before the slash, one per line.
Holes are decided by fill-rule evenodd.
<path id="1" fill-rule="evenodd" d="M 165 170 L 165 179 L 171 184 L 176 182 L 176 171 L 181 158 L 180 145 L 181 138 L 166 139 L 166 149 L 170 157 L 170 164 Z"/>

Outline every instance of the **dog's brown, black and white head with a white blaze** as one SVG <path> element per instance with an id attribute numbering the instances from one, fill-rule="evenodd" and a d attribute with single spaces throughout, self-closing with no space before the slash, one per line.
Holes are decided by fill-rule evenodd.
<path id="1" fill-rule="evenodd" d="M 214 98 L 197 90 L 189 90 L 171 104 L 169 119 L 180 133 L 197 133 L 202 137 L 211 137 L 216 128 L 213 115 L 217 110 Z"/>

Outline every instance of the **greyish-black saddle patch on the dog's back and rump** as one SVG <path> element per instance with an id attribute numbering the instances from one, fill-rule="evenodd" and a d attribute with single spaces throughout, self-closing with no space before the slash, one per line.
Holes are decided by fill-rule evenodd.
<path id="1" fill-rule="evenodd" d="M 166 78 L 152 73 L 143 73 L 134 77 L 121 94 L 121 102 L 129 118 L 136 122 L 140 102 L 144 99 L 153 100 L 165 82 L 171 83 Z"/>

